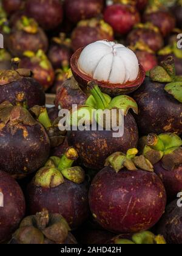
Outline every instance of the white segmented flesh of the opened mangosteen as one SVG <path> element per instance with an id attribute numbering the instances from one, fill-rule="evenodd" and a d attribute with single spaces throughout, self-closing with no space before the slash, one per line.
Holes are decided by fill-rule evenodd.
<path id="1" fill-rule="evenodd" d="M 138 77 L 139 63 L 135 53 L 123 44 L 104 40 L 83 49 L 78 69 L 100 82 L 126 84 Z"/>

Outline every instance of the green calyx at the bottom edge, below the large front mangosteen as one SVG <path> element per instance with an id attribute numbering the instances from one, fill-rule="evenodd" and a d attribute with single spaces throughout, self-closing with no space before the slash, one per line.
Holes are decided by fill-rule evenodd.
<path id="1" fill-rule="evenodd" d="M 115 244 L 166 244 L 166 241 L 161 235 L 155 236 L 152 232 L 144 231 L 135 233 L 132 240 L 116 239 Z"/>

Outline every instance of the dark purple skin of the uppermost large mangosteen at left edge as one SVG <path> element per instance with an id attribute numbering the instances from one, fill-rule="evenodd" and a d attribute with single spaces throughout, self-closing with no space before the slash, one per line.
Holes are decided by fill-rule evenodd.
<path id="1" fill-rule="evenodd" d="M 0 104 L 4 101 L 10 101 L 12 104 L 15 104 L 16 94 L 19 92 L 25 93 L 29 108 L 35 105 L 45 105 L 44 90 L 31 77 L 23 77 L 16 82 L 0 85 Z"/>

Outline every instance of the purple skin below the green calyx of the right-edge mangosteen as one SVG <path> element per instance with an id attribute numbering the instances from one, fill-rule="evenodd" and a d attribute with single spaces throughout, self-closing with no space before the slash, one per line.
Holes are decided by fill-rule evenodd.
<path id="1" fill-rule="evenodd" d="M 177 194 L 182 191 L 182 165 L 173 171 L 167 171 L 160 162 L 154 166 L 154 169 L 166 188 L 168 201 L 173 201 Z"/>

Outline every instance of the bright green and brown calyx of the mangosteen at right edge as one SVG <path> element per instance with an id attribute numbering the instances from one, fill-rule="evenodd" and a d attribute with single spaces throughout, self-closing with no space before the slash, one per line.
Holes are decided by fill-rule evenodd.
<path id="1" fill-rule="evenodd" d="M 165 169 L 171 171 L 182 163 L 182 140 L 175 133 L 149 134 L 141 138 L 141 151 L 153 165 L 163 163 Z"/>

